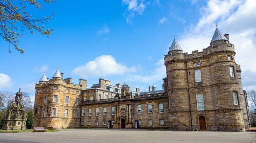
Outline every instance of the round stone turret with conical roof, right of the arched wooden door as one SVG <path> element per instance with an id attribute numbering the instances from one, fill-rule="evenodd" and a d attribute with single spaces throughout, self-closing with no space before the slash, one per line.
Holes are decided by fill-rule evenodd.
<path id="1" fill-rule="evenodd" d="M 234 45 L 230 44 L 228 34 L 225 35 L 216 27 L 210 46 L 207 48 L 216 129 L 245 131 L 242 109 L 245 100 L 241 70 L 234 60 Z"/>

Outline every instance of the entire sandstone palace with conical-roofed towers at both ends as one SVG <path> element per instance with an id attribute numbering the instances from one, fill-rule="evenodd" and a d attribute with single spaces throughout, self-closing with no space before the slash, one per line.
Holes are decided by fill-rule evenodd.
<path id="1" fill-rule="evenodd" d="M 57 69 L 35 84 L 33 127 L 169 128 L 193 131 L 245 131 L 250 124 L 240 65 L 229 35 L 216 28 L 203 52 L 183 53 L 174 38 L 164 57 L 163 89 L 148 92 L 99 79 L 87 88 Z"/>

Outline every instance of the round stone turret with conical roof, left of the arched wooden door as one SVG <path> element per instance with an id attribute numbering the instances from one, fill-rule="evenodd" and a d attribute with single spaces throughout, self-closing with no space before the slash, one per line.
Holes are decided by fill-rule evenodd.
<path id="1" fill-rule="evenodd" d="M 169 97 L 169 124 L 171 130 L 190 130 L 189 96 L 185 53 L 174 40 L 164 57 L 167 69 L 167 92 Z"/>

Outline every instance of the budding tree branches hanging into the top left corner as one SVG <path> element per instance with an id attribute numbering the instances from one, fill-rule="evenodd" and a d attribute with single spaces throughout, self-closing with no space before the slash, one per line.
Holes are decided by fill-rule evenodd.
<path id="1" fill-rule="evenodd" d="M 49 4 L 55 1 L 44 0 L 44 2 Z M 20 53 L 24 53 L 24 50 L 19 48 L 17 38 L 23 35 L 20 32 L 23 32 L 24 29 L 28 29 L 32 34 L 34 31 L 38 31 L 47 37 L 54 30 L 45 29 L 44 26 L 44 22 L 48 22 L 54 12 L 48 17 L 32 18 L 32 15 L 26 11 L 26 5 L 29 4 L 34 6 L 35 9 L 40 9 L 43 6 L 36 0 L 16 0 L 15 2 L 13 0 L 0 0 L 0 36 L 12 44 Z"/>

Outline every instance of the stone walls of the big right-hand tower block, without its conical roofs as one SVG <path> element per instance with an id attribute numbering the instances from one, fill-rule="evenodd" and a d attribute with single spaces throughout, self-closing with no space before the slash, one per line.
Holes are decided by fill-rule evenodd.
<path id="1" fill-rule="evenodd" d="M 245 131 L 241 69 L 226 38 L 213 41 L 203 52 L 173 50 L 164 57 L 171 129 Z"/>

